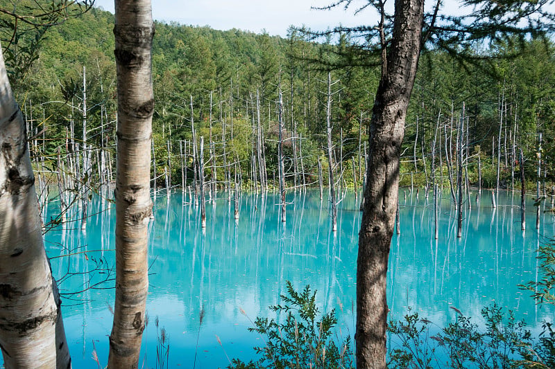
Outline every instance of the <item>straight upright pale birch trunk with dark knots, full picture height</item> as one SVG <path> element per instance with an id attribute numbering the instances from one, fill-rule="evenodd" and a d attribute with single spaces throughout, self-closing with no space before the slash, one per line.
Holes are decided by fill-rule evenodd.
<path id="1" fill-rule="evenodd" d="M 154 98 L 151 1 L 116 0 L 116 301 L 108 368 L 137 368 L 148 292 L 150 145 Z"/>

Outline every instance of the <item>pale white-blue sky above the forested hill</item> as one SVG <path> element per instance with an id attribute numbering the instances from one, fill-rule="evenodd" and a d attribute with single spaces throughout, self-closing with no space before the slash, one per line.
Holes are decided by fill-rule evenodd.
<path id="1" fill-rule="evenodd" d="M 364 11 L 354 15 L 352 9 L 314 10 L 311 6 L 327 6 L 332 0 L 152 0 L 153 18 L 177 21 L 192 26 L 210 26 L 216 30 L 239 28 L 270 35 L 287 36 L 289 26 L 303 24 L 313 30 L 328 27 L 359 26 L 375 23 L 375 15 Z M 363 1 L 364 3 L 366 1 Z M 114 12 L 114 0 L 96 0 L 96 6 Z"/>

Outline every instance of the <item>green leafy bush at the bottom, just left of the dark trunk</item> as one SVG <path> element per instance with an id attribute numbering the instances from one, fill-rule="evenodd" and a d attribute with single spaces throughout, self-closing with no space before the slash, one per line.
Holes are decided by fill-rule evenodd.
<path id="1" fill-rule="evenodd" d="M 261 355 L 258 361 L 244 363 L 233 359 L 228 368 L 353 368 L 350 338 L 336 343 L 333 328 L 337 323 L 335 312 L 320 315 L 316 307 L 316 291 L 307 285 L 301 292 L 295 291 L 287 281 L 287 295 L 280 296 L 284 305 L 270 309 L 281 316 L 279 320 L 257 318 L 255 327 L 249 328 L 265 338 L 264 347 L 256 347 Z"/>

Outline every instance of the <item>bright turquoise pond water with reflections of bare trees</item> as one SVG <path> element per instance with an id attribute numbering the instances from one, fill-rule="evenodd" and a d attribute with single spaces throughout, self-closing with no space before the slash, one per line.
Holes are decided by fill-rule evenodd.
<path id="1" fill-rule="evenodd" d="M 456 307 L 481 323 L 481 307 L 495 301 L 538 332 L 554 310 L 534 305 L 529 292 L 518 285 L 538 278 L 536 250 L 555 234 L 554 215 L 542 213 L 537 231 L 536 208 L 529 199 L 527 231 L 522 233 L 519 195 L 500 194 L 494 209 L 491 195 L 484 192 L 479 203 L 472 195 L 472 209 L 465 208 L 463 237 L 457 239 L 454 207 L 447 196 L 445 192 L 441 201 L 439 239 L 434 240 L 432 198 L 420 192 L 417 199 L 416 193 L 401 190 L 401 232 L 393 235 L 389 259 L 390 318 L 402 318 L 412 307 L 443 326 L 454 320 L 450 307 Z M 268 305 L 278 303 L 286 280 L 298 289 L 307 284 L 317 289 L 321 310 L 335 308 L 338 330 L 352 335 L 360 197 L 355 199 L 353 192 L 343 197 L 336 234 L 331 231 L 328 202 L 320 201 L 318 190 L 289 193 L 287 224 L 279 220 L 275 194 L 245 192 L 237 223 L 234 204 L 223 192 L 219 197 L 207 203 L 205 230 L 199 208 L 180 191 L 169 199 L 165 191 L 159 192 L 154 200 L 144 368 L 155 367 L 156 318 L 158 330 L 164 327 L 169 335 L 169 368 L 192 368 L 195 352 L 196 368 L 223 368 L 228 357 L 253 359 L 251 348 L 263 343 L 248 332 L 250 320 L 272 316 Z M 56 206 L 54 201 L 49 204 L 47 218 Z M 46 234 L 53 273 L 62 280 L 60 291 L 65 294 L 63 314 L 74 368 L 97 368 L 94 348 L 101 364 L 108 361 L 114 301 L 112 206 L 95 197 L 86 233 L 80 222 L 70 222 Z M 549 204 L 541 207 L 545 210 Z M 78 219 L 77 209 L 71 217 Z M 69 253 L 78 254 L 56 258 Z M 201 309 L 205 317 L 199 334 Z"/>

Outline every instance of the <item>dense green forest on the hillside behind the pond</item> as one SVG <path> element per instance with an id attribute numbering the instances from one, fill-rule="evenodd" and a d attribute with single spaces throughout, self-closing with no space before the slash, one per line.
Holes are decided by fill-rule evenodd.
<path id="1" fill-rule="evenodd" d="M 112 24 L 113 15 L 93 8 L 40 35 L 31 68 L 17 69 L 16 59 L 11 65 L 8 59 L 32 151 L 45 159 L 43 172 L 60 165 L 78 170 L 79 153 L 90 148 L 83 156 L 91 168 L 87 179 L 112 179 L 117 139 Z M 233 181 L 277 187 L 280 107 L 288 188 L 318 186 L 319 177 L 326 185 L 328 163 L 336 185 L 363 183 L 379 69 L 330 67 L 345 64 L 341 55 L 352 45 L 347 37 L 316 42 L 300 30 L 281 38 L 160 22 L 155 29 L 153 177 L 158 186 L 195 181 L 194 166 L 203 155 L 205 177 L 214 188 Z M 25 42 L 15 46 L 24 50 Z M 448 183 L 456 177 L 459 147 L 471 186 L 493 188 L 499 178 L 501 188 L 520 187 L 520 149 L 525 177 L 535 182 L 540 132 L 541 177 L 552 183 L 554 62 L 552 43 L 532 39 L 476 51 L 471 61 L 436 51 L 422 55 L 407 118 L 402 185 L 425 185 L 440 168 L 436 179 Z M 326 157 L 328 98 L 331 161 Z"/>

